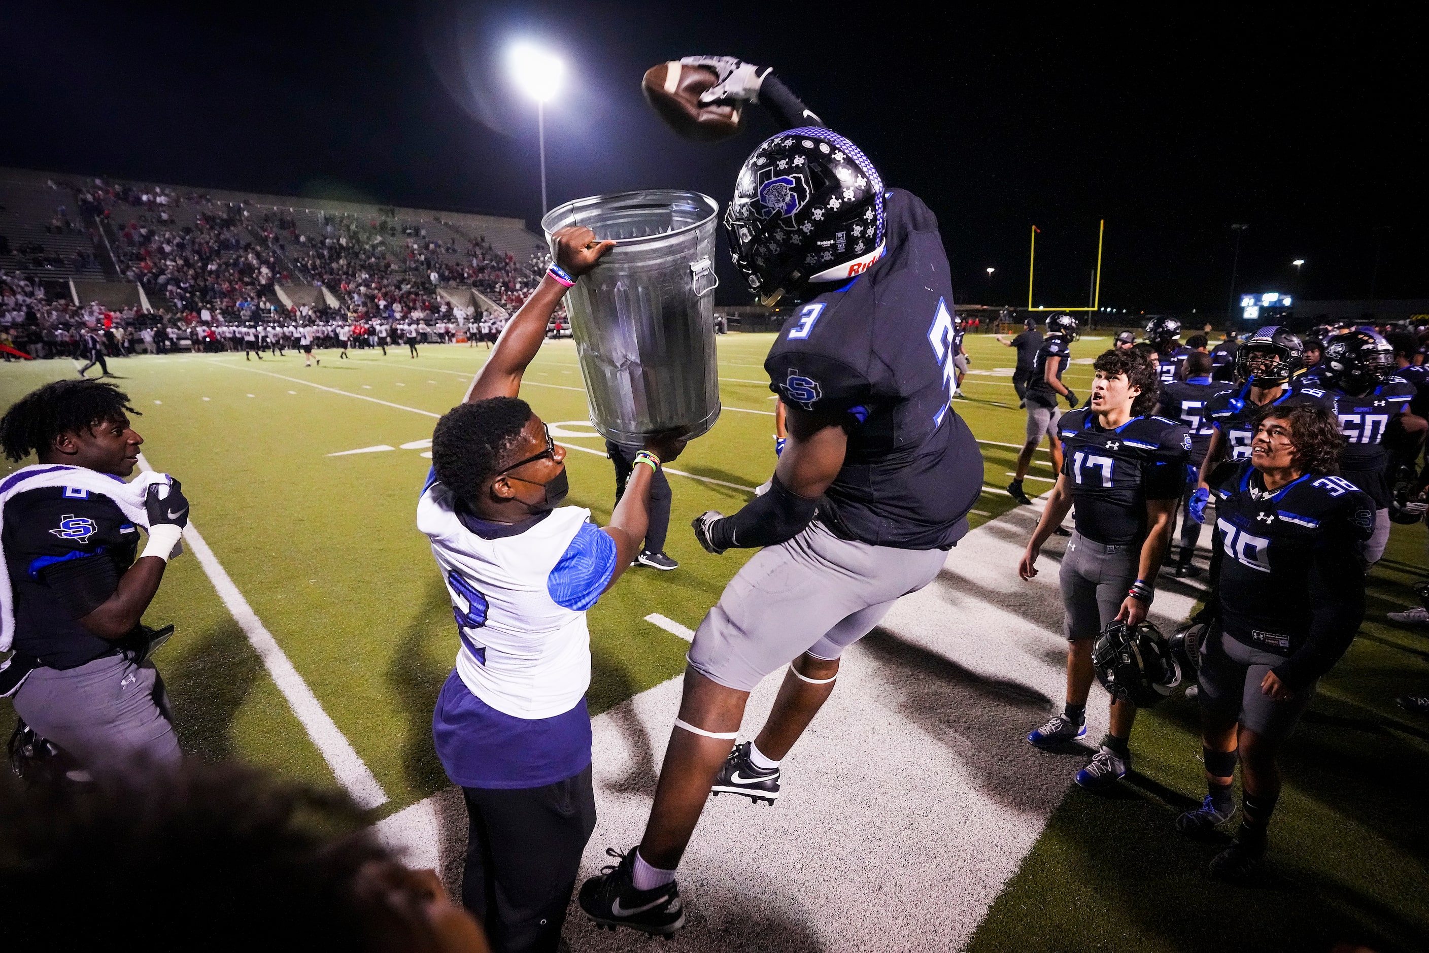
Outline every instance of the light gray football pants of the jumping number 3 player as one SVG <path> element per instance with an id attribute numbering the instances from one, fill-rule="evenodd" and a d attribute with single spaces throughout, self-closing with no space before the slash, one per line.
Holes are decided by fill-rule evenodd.
<path id="1" fill-rule="evenodd" d="M 807 652 L 837 659 L 900 597 L 933 582 L 947 553 L 842 540 L 823 526 L 767 546 L 729 580 L 694 633 L 690 667 L 752 692 Z"/>

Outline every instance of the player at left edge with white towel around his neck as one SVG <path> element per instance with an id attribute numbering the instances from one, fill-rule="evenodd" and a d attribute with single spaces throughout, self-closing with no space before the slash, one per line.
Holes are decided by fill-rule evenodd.
<path id="1" fill-rule="evenodd" d="M 0 694 L 77 763 L 76 780 L 180 759 L 164 683 L 147 660 L 157 640 L 139 620 L 189 523 L 189 502 L 161 473 L 124 483 L 144 441 L 130 413 L 113 384 L 60 380 L 0 419 L 6 456 L 40 459 L 0 482 L 9 576 L 0 577 L 0 652 L 14 649 L 0 666 Z"/>

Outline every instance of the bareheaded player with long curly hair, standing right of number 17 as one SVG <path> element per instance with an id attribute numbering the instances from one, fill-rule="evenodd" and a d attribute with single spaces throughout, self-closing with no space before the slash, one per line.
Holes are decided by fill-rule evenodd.
<path id="1" fill-rule="evenodd" d="M 1360 543 L 1375 502 L 1340 476 L 1339 421 L 1316 404 L 1268 404 L 1256 414 L 1250 457 L 1218 466 L 1213 637 L 1200 656 L 1200 734 L 1206 800 L 1176 829 L 1210 834 L 1235 814 L 1230 782 L 1240 757 L 1240 830 L 1210 862 L 1239 880 L 1266 850 L 1280 796 L 1275 759 L 1349 649 L 1365 617 Z"/>

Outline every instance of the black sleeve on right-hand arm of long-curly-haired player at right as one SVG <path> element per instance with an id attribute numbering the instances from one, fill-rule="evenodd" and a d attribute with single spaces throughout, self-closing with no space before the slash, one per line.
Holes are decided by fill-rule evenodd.
<path id="1" fill-rule="evenodd" d="M 1362 499 L 1340 510 L 1315 544 L 1310 632 L 1299 650 L 1275 667 L 1292 692 L 1333 669 L 1365 620 L 1365 560 L 1359 547 L 1365 533 L 1358 527 L 1375 526 L 1375 504 L 1363 493 L 1355 496 Z"/>

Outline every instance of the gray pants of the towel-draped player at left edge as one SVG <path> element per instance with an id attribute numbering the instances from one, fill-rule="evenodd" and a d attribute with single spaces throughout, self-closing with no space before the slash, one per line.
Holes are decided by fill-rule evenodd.
<path id="1" fill-rule="evenodd" d="M 74 669 L 36 669 L 16 692 L 14 710 L 91 773 L 136 760 L 171 767 L 180 759 L 169 697 L 151 663 L 104 656 Z"/>

